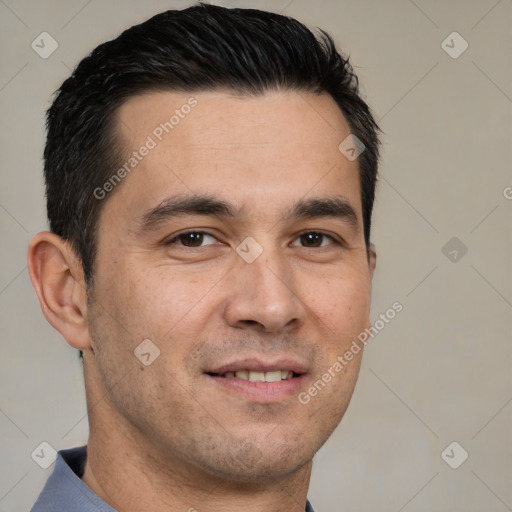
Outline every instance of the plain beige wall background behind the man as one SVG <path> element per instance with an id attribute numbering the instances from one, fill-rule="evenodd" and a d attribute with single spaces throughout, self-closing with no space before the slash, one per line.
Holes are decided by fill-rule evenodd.
<path id="1" fill-rule="evenodd" d="M 25 253 L 46 228 L 41 154 L 52 92 L 93 47 L 188 1 L 0 0 L 0 510 L 29 509 L 53 466 L 31 452 L 87 439 L 76 352 L 46 323 Z M 372 319 L 354 399 L 316 457 L 318 511 L 512 510 L 512 2 L 225 1 L 330 31 L 385 132 Z M 59 44 L 42 59 L 41 32 Z M 457 59 L 441 43 L 457 31 Z M 454 50 L 460 41 L 448 39 Z M 452 50 L 453 51 L 453 50 Z M 457 237 L 468 251 L 442 251 Z M 452 250 L 451 247 L 445 249 Z M 449 255 L 454 257 L 454 253 Z M 441 452 L 457 441 L 468 459 Z M 449 452 L 451 460 L 460 448 Z"/>

